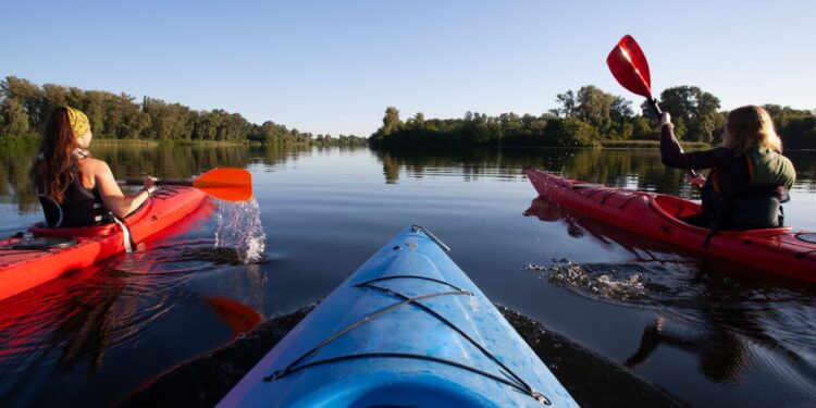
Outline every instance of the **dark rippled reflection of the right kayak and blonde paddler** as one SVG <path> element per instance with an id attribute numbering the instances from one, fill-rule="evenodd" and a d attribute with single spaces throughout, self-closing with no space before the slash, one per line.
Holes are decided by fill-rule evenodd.
<path id="1" fill-rule="evenodd" d="M 655 318 L 626 359 L 628 368 L 645 366 L 660 347 L 669 347 L 696 356 L 698 372 L 716 383 L 733 384 L 746 372 L 762 371 L 768 354 L 778 356 L 776 364 L 799 371 L 803 379 L 816 379 L 809 356 L 816 333 L 806 329 L 816 325 L 813 285 L 769 281 L 682 255 L 680 249 L 598 223 L 542 197 L 526 214 L 561 222 L 570 236 L 590 235 L 632 255 L 631 263 L 561 260 L 527 268 L 581 296 L 652 310 Z M 816 394 L 816 385 L 800 391 Z"/>

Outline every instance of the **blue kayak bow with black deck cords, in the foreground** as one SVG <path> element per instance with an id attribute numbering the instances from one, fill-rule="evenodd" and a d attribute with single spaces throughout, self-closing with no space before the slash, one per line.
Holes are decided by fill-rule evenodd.
<path id="1" fill-rule="evenodd" d="M 577 406 L 425 230 L 404 230 L 220 406 Z"/>

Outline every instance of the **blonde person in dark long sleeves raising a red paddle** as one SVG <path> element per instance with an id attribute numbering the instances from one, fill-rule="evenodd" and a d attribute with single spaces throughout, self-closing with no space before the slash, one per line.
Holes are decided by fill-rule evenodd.
<path id="1" fill-rule="evenodd" d="M 714 231 L 782 226 L 781 202 L 788 200 L 796 172 L 782 156 L 774 120 L 765 108 L 746 106 L 726 120 L 722 144 L 683 153 L 675 138 L 671 115 L 660 118 L 663 163 L 679 169 L 712 169 L 701 195 L 703 215 Z"/>

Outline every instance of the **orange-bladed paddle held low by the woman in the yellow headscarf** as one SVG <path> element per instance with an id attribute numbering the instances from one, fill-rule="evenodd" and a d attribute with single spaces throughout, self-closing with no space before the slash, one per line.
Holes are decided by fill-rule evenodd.
<path id="1" fill-rule="evenodd" d="M 127 186 L 140 186 L 144 181 L 127 178 L 119 181 Z M 159 180 L 157 186 L 190 186 L 220 200 L 246 201 L 252 198 L 252 175 L 244 169 L 212 169 L 191 180 Z"/>

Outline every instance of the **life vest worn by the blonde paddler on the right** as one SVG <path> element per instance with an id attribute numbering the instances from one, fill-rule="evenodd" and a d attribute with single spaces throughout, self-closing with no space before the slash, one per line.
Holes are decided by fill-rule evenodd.
<path id="1" fill-rule="evenodd" d="M 750 175 L 749 189 L 727 197 L 719 186 L 718 170 L 712 170 L 702 189 L 703 214 L 713 230 L 754 230 L 782 226 L 782 202 L 793 186 L 796 173 L 784 156 L 754 146 L 743 156 Z"/>

